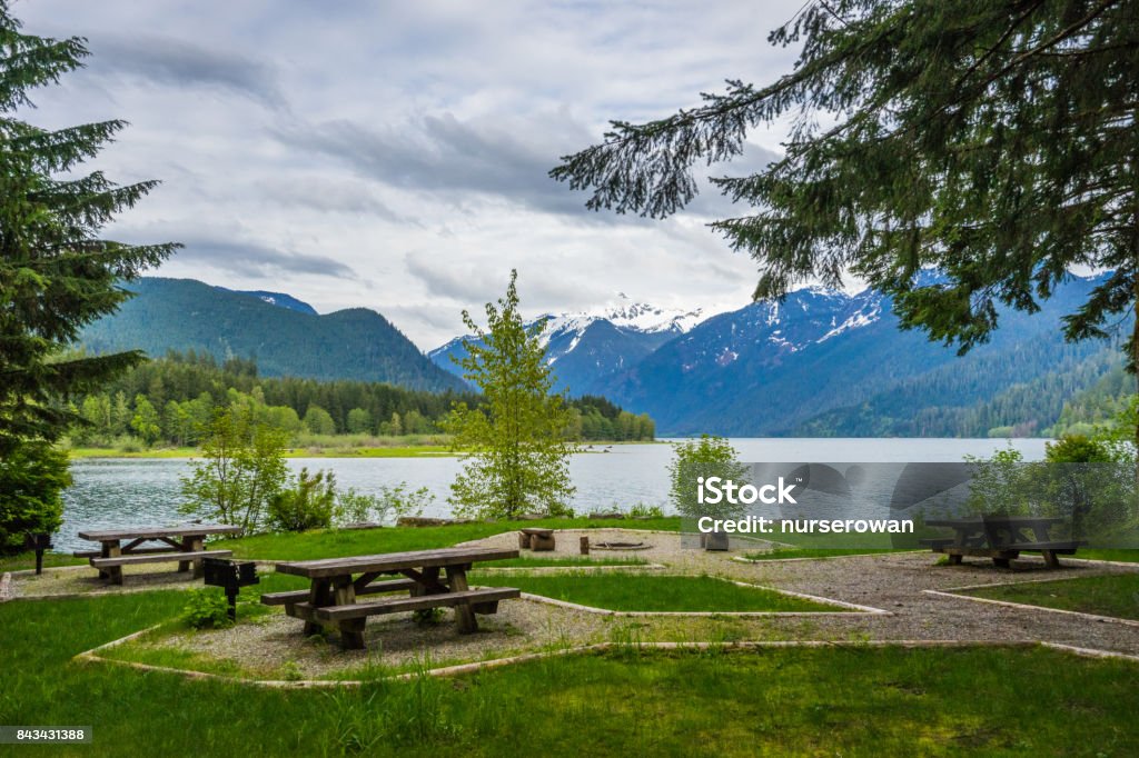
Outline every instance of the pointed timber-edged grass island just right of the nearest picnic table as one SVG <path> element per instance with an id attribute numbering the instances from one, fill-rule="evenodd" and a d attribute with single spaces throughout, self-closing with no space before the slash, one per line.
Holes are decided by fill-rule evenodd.
<path id="1" fill-rule="evenodd" d="M 741 587 L 708 576 L 615 574 L 478 574 L 473 584 L 518 587 L 535 595 L 624 611 L 842 611 L 771 590 Z"/>

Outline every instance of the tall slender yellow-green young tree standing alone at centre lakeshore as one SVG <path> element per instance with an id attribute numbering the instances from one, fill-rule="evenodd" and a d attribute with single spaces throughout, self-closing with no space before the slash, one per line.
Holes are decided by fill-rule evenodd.
<path id="1" fill-rule="evenodd" d="M 570 512 L 574 487 L 568 458 L 575 446 L 566 430 L 572 417 L 564 398 L 550 394 L 554 377 L 539 341 L 544 323 L 528 330 L 523 324 L 517 279 L 511 271 L 498 307 L 486 304 L 486 330 L 462 312 L 475 339 L 456 362 L 485 402 L 477 410 L 457 403 L 446 420 L 454 448 L 467 452 L 451 485 L 456 513 L 510 518 Z"/>

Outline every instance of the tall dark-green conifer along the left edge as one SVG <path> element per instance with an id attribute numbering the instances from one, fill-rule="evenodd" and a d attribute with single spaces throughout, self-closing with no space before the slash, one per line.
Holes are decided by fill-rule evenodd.
<path id="1" fill-rule="evenodd" d="M 83 175 L 125 124 L 108 121 L 42 129 L 17 117 L 30 93 L 82 66 L 83 40 L 21 32 L 0 0 L 0 550 L 21 529 L 54 530 L 66 459 L 49 445 L 81 417 L 69 395 L 142 360 L 139 352 L 71 355 L 80 330 L 114 313 L 129 295 L 118 285 L 166 258 L 174 245 L 125 245 L 98 238 L 114 215 L 155 182 L 120 187 Z M 23 467 L 18 469 L 17 467 Z M 18 485 L 18 486 L 16 486 Z M 7 487 L 15 488 L 7 488 Z M 36 513 L 39 509 L 39 513 Z"/>

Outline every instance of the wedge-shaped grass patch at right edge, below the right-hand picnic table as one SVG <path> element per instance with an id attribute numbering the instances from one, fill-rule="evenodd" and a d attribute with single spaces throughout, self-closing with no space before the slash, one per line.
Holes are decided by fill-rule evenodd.
<path id="1" fill-rule="evenodd" d="M 1033 582 L 968 590 L 962 594 L 1139 620 L 1139 574 Z"/>

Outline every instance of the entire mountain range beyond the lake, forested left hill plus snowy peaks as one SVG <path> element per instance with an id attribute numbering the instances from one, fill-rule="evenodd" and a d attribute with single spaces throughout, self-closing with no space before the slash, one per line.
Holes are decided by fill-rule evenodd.
<path id="1" fill-rule="evenodd" d="M 899 329 L 890 298 L 874 290 L 808 287 L 722 313 L 622 296 L 535 321 L 558 389 L 648 413 L 662 435 L 1024 436 L 1047 432 L 1068 398 L 1118 369 L 1117 345 L 1060 335 L 1060 318 L 1098 280 L 1073 278 L 1039 313 L 1002 312 L 992 339 L 965 356 Z M 424 355 L 366 308 L 319 315 L 281 293 L 192 280 L 145 278 L 130 289 L 137 296 L 116 315 L 84 331 L 87 348 L 192 349 L 254 357 L 264 376 L 469 388 L 451 360 L 469 336 Z"/>

